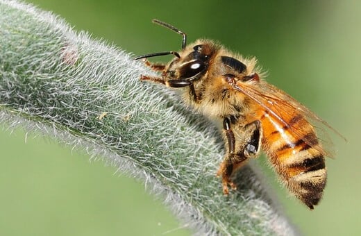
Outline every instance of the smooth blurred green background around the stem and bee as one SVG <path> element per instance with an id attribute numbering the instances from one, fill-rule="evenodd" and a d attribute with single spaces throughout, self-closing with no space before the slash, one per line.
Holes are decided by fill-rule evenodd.
<path id="1" fill-rule="evenodd" d="M 309 211 L 279 186 L 265 157 L 257 162 L 285 212 L 305 235 L 360 235 L 360 1 L 64 1 L 28 0 L 77 31 L 140 55 L 181 47 L 181 36 L 219 40 L 257 56 L 267 80 L 326 119 L 335 137 L 324 200 Z M 169 60 L 169 57 L 158 58 Z M 0 130 L 0 235 L 190 235 L 143 183 L 91 163 L 53 141 Z M 27 140 L 27 142 L 25 142 Z M 215 170 L 216 171 L 216 170 Z"/>

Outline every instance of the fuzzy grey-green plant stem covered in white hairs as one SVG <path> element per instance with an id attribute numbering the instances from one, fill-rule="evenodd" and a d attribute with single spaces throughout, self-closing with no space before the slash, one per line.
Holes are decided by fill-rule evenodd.
<path id="1" fill-rule="evenodd" d="M 245 167 L 224 196 L 223 143 L 177 94 L 141 83 L 131 55 L 76 33 L 58 17 L 0 0 L 0 117 L 86 149 L 144 180 L 197 234 L 293 235 Z"/>

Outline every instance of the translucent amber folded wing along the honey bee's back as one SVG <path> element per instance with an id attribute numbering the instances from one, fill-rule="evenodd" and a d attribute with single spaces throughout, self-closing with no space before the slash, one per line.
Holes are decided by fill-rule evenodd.
<path id="1" fill-rule="evenodd" d="M 296 101 L 296 99 L 292 96 L 289 96 L 283 90 L 278 89 L 274 85 L 270 85 L 265 81 L 252 81 L 252 83 L 242 83 L 241 81 L 238 81 L 234 85 L 234 88 L 267 110 L 267 112 L 277 119 L 280 124 L 287 127 L 295 137 L 303 140 L 303 142 L 310 146 L 314 146 L 314 140 L 312 140 L 312 137 L 304 135 L 300 128 L 297 128 L 296 126 L 290 124 L 290 122 L 287 122 L 289 121 L 289 117 L 292 117 L 292 115 L 303 115 L 303 117 L 312 124 L 314 129 L 317 130 L 317 139 L 321 142 L 321 146 L 314 146 L 314 148 L 321 151 L 321 153 L 325 153 L 328 156 L 333 156 L 334 153 L 332 150 L 333 142 L 330 140 L 326 129 L 333 130 L 334 133 L 344 138 L 326 121 L 315 115 L 308 108 Z M 344 140 L 346 139 L 344 138 Z"/>

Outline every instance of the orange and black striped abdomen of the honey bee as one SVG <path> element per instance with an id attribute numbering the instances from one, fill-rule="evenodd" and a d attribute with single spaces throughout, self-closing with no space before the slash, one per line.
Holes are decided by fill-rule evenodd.
<path id="1" fill-rule="evenodd" d="M 260 117 L 262 147 L 289 190 L 313 209 L 326 185 L 324 151 L 303 115 L 283 115 L 284 123 L 267 112 Z M 287 125 L 285 125 L 287 124 Z"/>

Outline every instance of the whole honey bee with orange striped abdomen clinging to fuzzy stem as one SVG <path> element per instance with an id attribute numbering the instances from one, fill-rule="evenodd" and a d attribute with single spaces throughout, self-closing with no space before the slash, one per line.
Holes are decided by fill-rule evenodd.
<path id="1" fill-rule="evenodd" d="M 183 89 L 185 102 L 203 115 L 223 122 L 226 155 L 217 176 L 223 192 L 236 169 L 262 149 L 290 192 L 311 210 L 319 203 L 326 185 L 325 151 L 312 121 L 331 128 L 291 96 L 262 80 L 255 58 L 231 53 L 212 40 L 187 45 L 187 35 L 158 19 L 153 22 L 183 36 L 181 51 L 138 56 L 159 77 L 141 76 L 168 87 Z M 146 58 L 174 55 L 167 65 Z M 331 128 L 332 129 L 332 128 Z"/>

